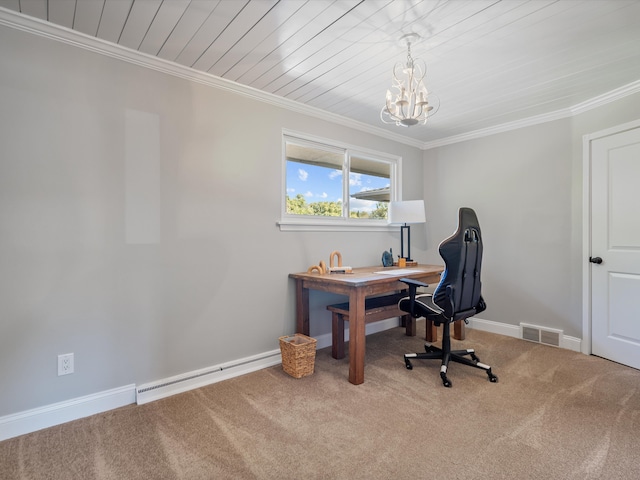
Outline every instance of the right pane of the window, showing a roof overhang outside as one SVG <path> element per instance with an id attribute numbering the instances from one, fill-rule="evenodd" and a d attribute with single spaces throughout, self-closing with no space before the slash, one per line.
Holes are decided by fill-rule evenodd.
<path id="1" fill-rule="evenodd" d="M 349 217 L 387 218 L 391 198 L 391 165 L 352 156 L 349 174 Z"/>

